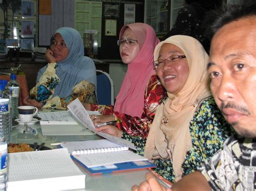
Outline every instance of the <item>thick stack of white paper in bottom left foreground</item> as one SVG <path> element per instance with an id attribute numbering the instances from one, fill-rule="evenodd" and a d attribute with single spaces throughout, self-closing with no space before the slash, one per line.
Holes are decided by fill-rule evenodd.
<path id="1" fill-rule="evenodd" d="M 8 191 L 81 188 L 85 174 L 66 148 L 8 154 Z"/>

